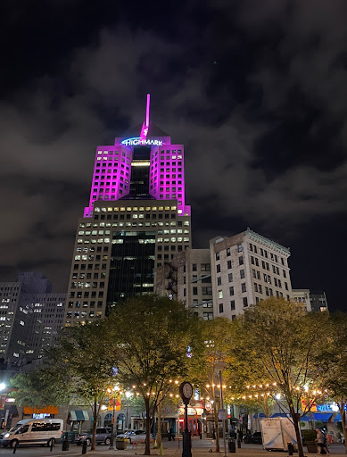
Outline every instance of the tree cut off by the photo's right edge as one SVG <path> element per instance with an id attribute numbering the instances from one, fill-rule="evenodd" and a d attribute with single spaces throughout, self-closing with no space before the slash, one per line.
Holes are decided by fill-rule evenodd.
<path id="1" fill-rule="evenodd" d="M 324 353 L 320 354 L 318 365 L 322 378 L 322 387 L 328 389 L 329 395 L 339 407 L 347 453 L 347 314 L 335 312 L 330 315 L 328 334 Z"/>

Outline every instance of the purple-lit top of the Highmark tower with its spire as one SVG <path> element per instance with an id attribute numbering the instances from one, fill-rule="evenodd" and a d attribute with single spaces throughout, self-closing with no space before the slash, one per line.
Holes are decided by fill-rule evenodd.
<path id="1" fill-rule="evenodd" d="M 114 145 L 96 148 L 89 206 L 84 217 L 93 215 L 96 200 L 134 198 L 131 183 L 140 168 L 148 179 L 149 198 L 176 199 L 178 216 L 190 216 L 190 206 L 185 201 L 184 146 L 171 145 L 171 138 L 150 122 L 149 95 L 145 122 L 137 131 L 139 137 L 117 137 Z"/>

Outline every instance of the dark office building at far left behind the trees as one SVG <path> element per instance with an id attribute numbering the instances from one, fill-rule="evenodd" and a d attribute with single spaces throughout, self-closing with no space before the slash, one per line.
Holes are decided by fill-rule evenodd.
<path id="1" fill-rule="evenodd" d="M 52 294 L 40 272 L 19 273 L 0 283 L 0 357 L 3 367 L 21 366 L 54 345 L 62 328 L 66 294 Z"/>

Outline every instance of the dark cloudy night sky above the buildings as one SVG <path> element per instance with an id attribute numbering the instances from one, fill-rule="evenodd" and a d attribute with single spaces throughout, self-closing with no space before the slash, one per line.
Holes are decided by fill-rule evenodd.
<path id="1" fill-rule="evenodd" d="M 347 2 L 4 0 L 0 280 L 65 292 L 97 145 L 184 144 L 193 247 L 250 227 L 347 311 Z"/>

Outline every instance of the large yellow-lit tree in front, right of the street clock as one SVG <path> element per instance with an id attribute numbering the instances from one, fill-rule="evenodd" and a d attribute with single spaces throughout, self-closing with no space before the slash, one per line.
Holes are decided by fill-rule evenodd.
<path id="1" fill-rule="evenodd" d="M 302 303 L 272 297 L 233 321 L 235 361 L 228 367 L 229 376 L 242 371 L 247 384 L 256 386 L 253 393 L 260 395 L 272 395 L 276 388 L 272 397 L 277 402 L 278 395 L 285 399 L 278 403 L 291 414 L 299 457 L 303 457 L 299 421 L 321 395 L 317 359 L 325 344 L 327 319 L 324 313 L 305 312 Z M 306 405 L 303 411 L 302 405 Z"/>

